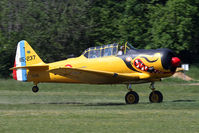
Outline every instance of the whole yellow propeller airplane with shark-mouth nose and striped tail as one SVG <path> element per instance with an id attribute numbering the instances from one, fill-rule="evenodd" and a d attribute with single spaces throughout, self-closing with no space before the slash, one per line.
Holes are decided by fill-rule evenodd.
<path id="1" fill-rule="evenodd" d="M 120 54 L 119 54 L 120 53 Z M 180 59 L 169 49 L 135 49 L 129 43 L 118 51 L 118 44 L 91 47 L 81 56 L 63 61 L 44 63 L 27 41 L 17 45 L 13 78 L 33 82 L 33 92 L 38 92 L 38 83 L 85 83 L 85 84 L 126 84 L 129 92 L 127 104 L 139 102 L 139 95 L 131 84 L 150 82 L 152 103 L 163 101 L 163 95 L 155 90 L 155 81 L 169 77 L 176 72 Z"/>

